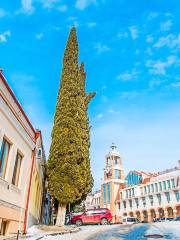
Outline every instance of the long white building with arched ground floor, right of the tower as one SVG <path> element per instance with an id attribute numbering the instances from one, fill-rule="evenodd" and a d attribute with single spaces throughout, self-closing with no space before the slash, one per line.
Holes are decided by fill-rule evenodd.
<path id="1" fill-rule="evenodd" d="M 135 216 L 141 221 L 180 216 L 180 161 L 178 166 L 158 174 L 137 179 L 137 172 L 126 177 L 131 185 L 120 188 L 116 198 L 116 215 Z M 134 179 L 132 181 L 132 179 Z"/>

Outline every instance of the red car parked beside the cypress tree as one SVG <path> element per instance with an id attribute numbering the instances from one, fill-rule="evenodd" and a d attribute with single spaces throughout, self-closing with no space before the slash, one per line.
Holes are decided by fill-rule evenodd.
<path id="1" fill-rule="evenodd" d="M 89 223 L 100 223 L 106 225 L 112 220 L 112 214 L 107 208 L 89 209 L 82 214 L 71 218 L 71 223 L 81 226 Z"/>

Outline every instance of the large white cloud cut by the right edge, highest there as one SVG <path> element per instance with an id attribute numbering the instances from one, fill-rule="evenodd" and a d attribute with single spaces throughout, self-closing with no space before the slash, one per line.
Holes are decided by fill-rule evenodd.
<path id="1" fill-rule="evenodd" d="M 180 34 L 175 36 L 169 34 L 166 37 L 160 37 L 158 41 L 153 45 L 155 48 L 169 47 L 180 48 Z"/>

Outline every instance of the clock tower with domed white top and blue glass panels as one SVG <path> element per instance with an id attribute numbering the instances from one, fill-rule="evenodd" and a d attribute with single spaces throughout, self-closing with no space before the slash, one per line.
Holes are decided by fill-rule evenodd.
<path id="1" fill-rule="evenodd" d="M 124 183 L 122 157 L 113 143 L 105 157 L 104 179 L 101 184 L 101 207 L 108 208 L 115 220 L 115 200 L 119 187 Z"/>

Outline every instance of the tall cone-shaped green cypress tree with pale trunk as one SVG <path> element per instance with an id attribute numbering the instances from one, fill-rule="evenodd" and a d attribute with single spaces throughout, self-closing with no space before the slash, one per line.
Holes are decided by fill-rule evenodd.
<path id="1" fill-rule="evenodd" d="M 57 225 L 64 223 L 66 205 L 85 198 L 93 186 L 87 110 L 95 93 L 86 94 L 85 77 L 84 64 L 78 66 L 76 29 L 72 28 L 64 53 L 47 164 L 49 191 L 59 201 Z"/>

